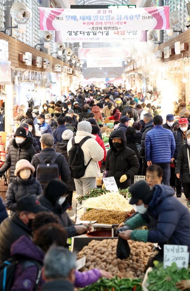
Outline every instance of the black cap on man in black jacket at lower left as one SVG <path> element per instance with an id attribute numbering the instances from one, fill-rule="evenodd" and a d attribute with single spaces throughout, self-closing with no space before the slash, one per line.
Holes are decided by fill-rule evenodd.
<path id="1" fill-rule="evenodd" d="M 16 210 L 28 211 L 32 213 L 47 211 L 47 209 L 41 206 L 40 202 L 30 194 L 27 194 L 26 196 L 18 200 Z"/>

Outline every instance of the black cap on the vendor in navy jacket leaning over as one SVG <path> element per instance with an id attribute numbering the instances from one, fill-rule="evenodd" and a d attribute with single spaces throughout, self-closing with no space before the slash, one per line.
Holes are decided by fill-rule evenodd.
<path id="1" fill-rule="evenodd" d="M 130 204 L 136 204 L 139 199 L 144 204 L 149 204 L 154 193 L 154 188 L 151 189 L 146 181 L 139 181 L 129 188 L 129 192 L 131 193 Z"/>

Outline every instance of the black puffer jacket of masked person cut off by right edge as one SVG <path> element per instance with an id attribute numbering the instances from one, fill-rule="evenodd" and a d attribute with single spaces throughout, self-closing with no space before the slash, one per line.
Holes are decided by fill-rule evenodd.
<path id="1" fill-rule="evenodd" d="M 177 156 L 177 163 L 175 168 L 175 174 L 179 173 L 179 179 L 182 183 L 190 183 L 190 175 L 189 175 L 189 163 L 187 151 L 190 154 L 190 146 L 186 143 L 183 144 L 179 150 L 179 154 Z"/>

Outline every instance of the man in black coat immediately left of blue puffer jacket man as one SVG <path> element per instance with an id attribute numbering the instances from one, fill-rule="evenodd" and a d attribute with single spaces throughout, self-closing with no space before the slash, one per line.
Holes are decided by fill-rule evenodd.
<path id="1" fill-rule="evenodd" d="M 143 131 L 142 138 L 141 138 L 141 149 L 139 151 L 139 156 L 142 159 L 142 175 L 145 176 L 146 175 L 146 169 L 147 169 L 147 162 L 146 162 L 146 159 L 145 159 L 145 145 L 144 145 L 144 142 L 145 142 L 145 137 L 146 137 L 147 132 L 154 127 L 154 124 L 153 124 L 152 115 L 150 113 L 148 113 L 148 112 L 144 114 L 143 121 L 144 121 L 145 125 L 144 125 L 144 131 Z"/>

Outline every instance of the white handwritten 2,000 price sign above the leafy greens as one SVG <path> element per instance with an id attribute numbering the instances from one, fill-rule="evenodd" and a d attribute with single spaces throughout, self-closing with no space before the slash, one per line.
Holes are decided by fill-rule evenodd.
<path id="1" fill-rule="evenodd" d="M 178 269 L 188 268 L 189 253 L 187 245 L 164 245 L 164 268 L 175 262 Z"/>

